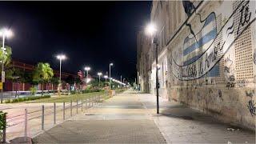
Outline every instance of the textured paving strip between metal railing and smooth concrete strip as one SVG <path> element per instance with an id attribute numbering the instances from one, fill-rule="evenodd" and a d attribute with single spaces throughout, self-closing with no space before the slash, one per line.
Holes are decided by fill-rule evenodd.
<path id="1" fill-rule="evenodd" d="M 126 91 L 38 135 L 34 143 L 166 143 L 138 101 Z"/>

